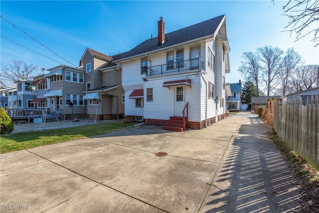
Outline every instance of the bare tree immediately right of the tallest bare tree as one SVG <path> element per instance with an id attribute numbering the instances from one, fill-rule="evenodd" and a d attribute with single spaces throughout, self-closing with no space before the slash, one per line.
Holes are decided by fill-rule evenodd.
<path id="1" fill-rule="evenodd" d="M 282 70 L 280 74 L 281 88 L 280 93 L 282 96 L 288 94 L 289 82 L 293 78 L 296 69 L 301 63 L 301 56 L 294 48 L 289 48 L 282 61 Z"/>

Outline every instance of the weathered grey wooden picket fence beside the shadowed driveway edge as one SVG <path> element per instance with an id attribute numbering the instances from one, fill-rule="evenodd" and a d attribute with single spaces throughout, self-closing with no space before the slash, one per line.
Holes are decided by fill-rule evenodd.
<path id="1" fill-rule="evenodd" d="M 307 104 L 299 101 L 274 104 L 276 133 L 319 171 L 319 95 L 308 98 Z"/>

